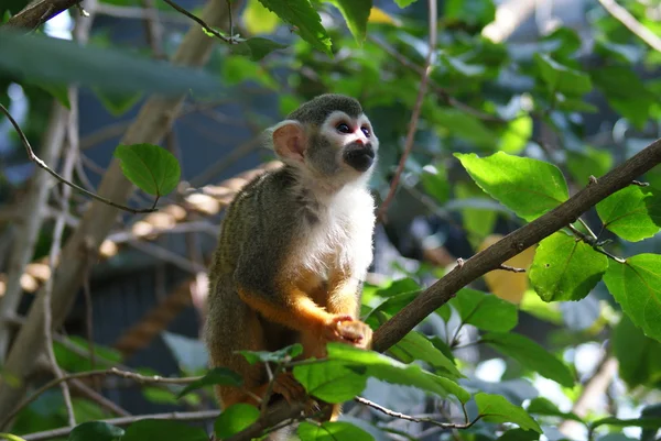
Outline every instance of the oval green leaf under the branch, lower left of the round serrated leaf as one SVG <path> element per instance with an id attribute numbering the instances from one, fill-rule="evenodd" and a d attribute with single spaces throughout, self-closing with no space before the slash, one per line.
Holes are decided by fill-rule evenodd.
<path id="1" fill-rule="evenodd" d="M 448 304 L 464 323 L 483 331 L 507 332 L 519 321 L 517 306 L 492 294 L 464 288 Z"/>

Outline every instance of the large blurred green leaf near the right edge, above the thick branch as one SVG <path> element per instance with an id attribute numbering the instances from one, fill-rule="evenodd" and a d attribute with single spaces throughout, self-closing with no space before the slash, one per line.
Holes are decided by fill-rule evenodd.
<path id="1" fill-rule="evenodd" d="M 590 71 L 590 77 L 610 107 L 642 130 L 655 98 L 631 67 L 599 66 Z"/>

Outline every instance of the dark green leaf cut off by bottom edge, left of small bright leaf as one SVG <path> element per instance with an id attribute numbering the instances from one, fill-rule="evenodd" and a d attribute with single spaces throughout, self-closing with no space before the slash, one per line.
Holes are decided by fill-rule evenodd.
<path id="1" fill-rule="evenodd" d="M 181 421 L 166 419 L 138 420 L 127 428 L 121 441 L 208 441 L 206 431 Z"/>

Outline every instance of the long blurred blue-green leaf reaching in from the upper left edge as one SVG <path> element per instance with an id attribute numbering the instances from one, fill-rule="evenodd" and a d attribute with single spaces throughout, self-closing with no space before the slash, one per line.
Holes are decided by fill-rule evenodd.
<path id="1" fill-rule="evenodd" d="M 0 71 L 44 84 L 78 84 L 116 92 L 213 95 L 219 82 L 201 69 L 174 66 L 94 44 L 0 30 Z M 57 63 L 53 63 L 57 59 Z"/>

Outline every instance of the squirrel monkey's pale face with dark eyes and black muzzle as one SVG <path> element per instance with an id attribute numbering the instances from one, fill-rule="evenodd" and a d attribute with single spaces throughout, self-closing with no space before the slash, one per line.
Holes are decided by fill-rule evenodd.
<path id="1" fill-rule="evenodd" d="M 334 111 L 312 136 L 308 158 L 326 175 L 364 175 L 372 167 L 379 140 L 365 114 Z"/>

